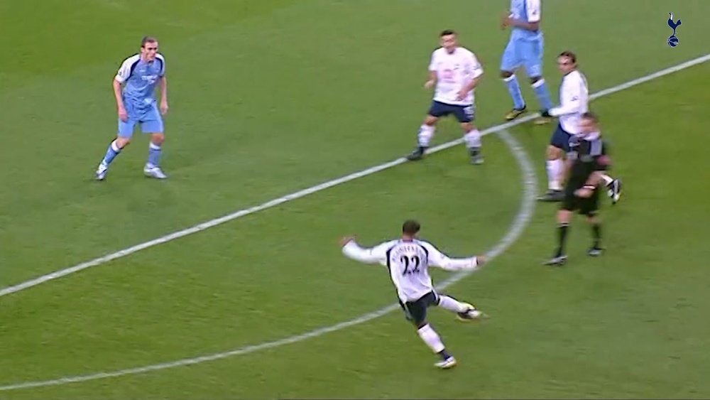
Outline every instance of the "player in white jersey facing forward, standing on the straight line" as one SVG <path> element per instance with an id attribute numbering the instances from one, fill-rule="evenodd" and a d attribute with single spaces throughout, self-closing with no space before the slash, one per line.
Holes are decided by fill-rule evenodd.
<path id="1" fill-rule="evenodd" d="M 417 148 L 407 156 L 410 161 L 422 159 L 434 136 L 439 118 L 453 114 L 464 129 L 464 140 L 469 148 L 471 163 L 481 164 L 481 132 L 473 124 L 476 114 L 474 89 L 484 70 L 471 50 L 459 46 L 454 31 L 443 31 L 440 48 L 434 50 L 429 64 L 427 89 L 436 86 L 431 107 L 420 126 Z"/>

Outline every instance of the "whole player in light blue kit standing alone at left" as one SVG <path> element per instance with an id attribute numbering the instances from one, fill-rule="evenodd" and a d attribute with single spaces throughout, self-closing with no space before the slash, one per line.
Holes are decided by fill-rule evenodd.
<path id="1" fill-rule="evenodd" d="M 160 86 L 160 109 L 155 99 L 156 85 Z M 160 169 L 160 153 L 165 141 L 161 115 L 168 112 L 168 80 L 165 79 L 165 58 L 158 53 L 158 39 L 146 36 L 141 41 L 141 53 L 124 60 L 114 78 L 114 95 L 119 132 L 99 163 L 97 180 L 106 178 L 111 161 L 131 142 L 136 124 L 141 125 L 144 134 L 151 134 L 148 162 L 143 173 L 151 178 L 168 178 Z"/>

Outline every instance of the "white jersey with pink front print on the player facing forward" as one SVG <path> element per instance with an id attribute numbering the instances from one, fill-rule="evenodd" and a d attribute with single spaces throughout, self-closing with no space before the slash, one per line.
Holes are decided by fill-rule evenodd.
<path id="1" fill-rule="evenodd" d="M 466 94 L 463 100 L 457 100 L 461 89 L 484 73 L 474 53 L 462 47 L 457 47 L 451 54 L 445 48 L 437 48 L 432 53 L 429 70 L 437 74 L 437 87 L 434 94 L 436 102 L 459 106 L 474 104 L 474 90 Z"/>

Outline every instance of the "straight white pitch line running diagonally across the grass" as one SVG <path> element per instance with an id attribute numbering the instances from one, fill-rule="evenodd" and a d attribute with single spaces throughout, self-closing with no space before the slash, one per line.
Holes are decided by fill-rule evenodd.
<path id="1" fill-rule="evenodd" d="M 698 58 L 694 58 L 692 60 L 688 60 L 684 63 L 680 63 L 678 65 L 674 65 L 672 67 L 667 67 L 664 70 L 660 70 L 658 72 L 653 72 L 650 75 L 646 75 L 644 77 L 637 78 L 635 80 L 630 80 L 629 82 L 623 83 L 621 85 L 616 85 L 614 87 L 610 87 L 605 90 L 601 90 L 601 92 L 596 92 L 592 94 L 589 98 L 590 99 L 596 99 L 602 96 L 606 96 L 608 94 L 616 93 L 621 90 L 626 90 L 629 87 L 633 87 L 635 85 L 640 85 L 641 83 L 648 82 L 650 80 L 655 80 L 659 77 L 669 75 L 673 72 L 677 72 L 679 70 L 684 70 L 685 68 L 692 67 L 693 65 L 698 65 L 701 63 L 705 63 L 706 61 L 710 60 L 710 54 L 703 55 Z M 531 119 L 534 119 L 535 115 L 530 114 L 526 117 L 516 119 L 515 121 L 510 121 L 507 122 L 506 124 L 501 124 L 501 125 L 496 125 L 492 126 L 491 128 L 488 128 L 484 131 L 481 132 L 481 134 L 491 134 L 495 132 L 502 131 L 503 129 L 508 129 L 513 126 L 523 124 L 524 122 L 530 121 Z M 454 141 L 449 141 L 447 143 L 441 144 L 439 146 L 433 147 L 430 149 L 430 153 L 436 153 L 437 151 L 442 151 L 446 148 L 450 148 L 453 146 L 457 146 L 459 144 L 463 143 L 463 139 L 457 139 Z M 129 254 L 133 254 L 136 252 L 140 252 L 141 250 L 148 249 L 149 247 L 157 246 L 158 244 L 163 244 L 166 242 L 170 242 L 175 239 L 179 239 L 180 237 L 185 237 L 189 234 L 197 233 L 200 232 L 204 229 L 208 229 L 211 227 L 215 227 L 217 225 L 224 224 L 224 222 L 229 222 L 231 220 L 236 220 L 237 218 L 244 217 L 246 215 L 253 214 L 255 212 L 263 211 L 271 207 L 275 207 L 277 205 L 281 205 L 285 202 L 289 202 L 291 200 L 296 200 L 298 198 L 302 198 L 304 196 L 310 195 L 312 193 L 320 192 L 321 190 L 325 190 L 327 188 L 332 188 L 333 186 L 340 185 L 342 183 L 349 182 L 351 180 L 355 180 L 357 178 L 362 178 L 367 175 L 372 175 L 373 173 L 377 173 L 379 171 L 386 170 L 388 168 L 392 168 L 393 166 L 398 166 L 401 163 L 405 163 L 406 159 L 405 158 L 398 158 L 395 161 L 390 161 L 388 163 L 383 163 L 380 164 L 379 166 L 374 166 L 371 168 L 367 168 L 366 170 L 356 172 L 356 173 L 351 173 L 350 175 L 345 175 L 342 178 L 337 178 L 334 180 L 329 180 L 325 183 L 321 183 L 320 185 L 315 185 L 310 188 L 300 190 L 295 193 L 291 193 L 290 195 L 285 195 L 281 198 L 276 198 L 274 200 L 264 202 L 260 205 L 256 205 L 251 208 L 246 208 L 244 210 L 239 210 L 236 212 L 233 212 L 229 215 L 224 215 L 224 217 L 219 217 L 215 218 L 214 220 L 209 220 L 207 222 L 202 222 L 200 225 L 195 225 L 194 227 L 190 227 L 187 229 L 182 229 L 178 232 L 173 232 L 171 234 L 167 234 L 163 237 L 158 237 L 158 239 L 153 239 L 148 242 L 143 242 L 141 244 L 136 244 L 133 247 L 129 247 L 127 249 L 119 250 L 118 252 L 107 254 L 105 256 L 101 256 L 97 259 L 92 259 L 90 261 L 82 262 L 81 264 L 77 264 L 75 266 L 70 266 L 69 268 L 66 269 L 60 269 L 59 271 L 52 272 L 50 274 L 46 274 L 43 276 L 38 276 L 35 279 L 31 279 L 29 281 L 25 281 L 22 283 L 18 283 L 17 285 L 13 286 L 8 286 L 6 288 L 3 288 L 0 290 L 0 297 L 2 296 L 7 296 L 12 293 L 17 293 L 18 291 L 23 291 L 28 288 L 32 288 L 34 286 L 38 286 L 42 283 L 48 282 L 48 281 L 53 281 L 54 279 L 61 278 L 62 276 L 67 276 L 70 274 L 74 274 L 79 271 L 83 271 L 84 269 L 91 268 L 92 266 L 98 266 L 101 264 L 105 264 L 109 261 L 112 261 L 114 259 L 119 259 L 121 257 L 127 256 Z"/>

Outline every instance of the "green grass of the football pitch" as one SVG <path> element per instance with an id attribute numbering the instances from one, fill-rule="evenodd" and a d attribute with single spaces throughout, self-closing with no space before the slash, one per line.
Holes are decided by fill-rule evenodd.
<path id="1" fill-rule="evenodd" d="M 510 107 L 497 77 L 505 3 L 1 5 L 0 43 L 15 56 L 0 59 L 0 286 L 402 156 L 430 101 L 421 85 L 442 28 L 461 31 L 484 63 L 479 125 L 499 123 Z M 117 28 L 138 4 L 150 17 Z M 683 20 L 673 49 L 668 11 Z M 709 11 L 699 0 L 547 0 L 547 80 L 556 90 L 555 55 L 567 48 L 592 91 L 702 55 L 695 16 Z M 94 183 L 115 129 L 111 77 L 146 33 L 168 60 L 171 178 L 141 176 L 147 139 L 137 135 L 107 182 Z M 434 371 L 395 312 L 249 355 L 0 399 L 710 396 L 708 72 L 699 65 L 592 104 L 627 189 L 603 210 L 607 254 L 584 256 L 589 229 L 578 218 L 568 266 L 540 266 L 554 245 L 555 205 L 536 205 L 508 252 L 449 288 L 493 318 L 459 325 L 432 311 L 457 369 Z M 550 130 L 511 129 L 540 185 Z M 444 121 L 435 140 L 459 135 Z M 223 352 L 387 306 L 386 273 L 344 259 L 338 237 L 374 244 L 415 216 L 450 254 L 491 248 L 518 211 L 520 171 L 496 136 L 484 146 L 481 168 L 452 148 L 2 297 L 0 386 Z"/>

